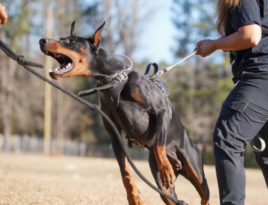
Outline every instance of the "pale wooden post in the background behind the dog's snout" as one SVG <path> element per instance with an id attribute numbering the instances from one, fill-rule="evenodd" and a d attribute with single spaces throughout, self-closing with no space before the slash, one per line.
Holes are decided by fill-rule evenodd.
<path id="1" fill-rule="evenodd" d="M 47 8 L 47 39 L 52 39 L 53 9 Z M 45 57 L 45 77 L 49 78 L 49 69 L 52 69 L 52 57 Z M 50 153 L 51 138 L 51 114 L 52 114 L 52 87 L 45 82 L 45 107 L 44 107 L 44 153 Z"/>

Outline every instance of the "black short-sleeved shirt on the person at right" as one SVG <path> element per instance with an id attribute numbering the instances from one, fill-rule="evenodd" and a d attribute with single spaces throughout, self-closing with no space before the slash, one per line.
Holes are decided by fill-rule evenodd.
<path id="1" fill-rule="evenodd" d="M 247 50 L 230 51 L 234 83 L 243 72 L 268 76 L 268 1 L 241 0 L 241 6 L 230 8 L 226 36 L 244 25 L 261 25 L 263 36 L 258 45 Z"/>

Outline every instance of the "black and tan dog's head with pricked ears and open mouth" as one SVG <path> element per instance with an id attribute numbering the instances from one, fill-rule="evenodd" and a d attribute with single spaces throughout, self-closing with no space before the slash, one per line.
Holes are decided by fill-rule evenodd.
<path id="1" fill-rule="evenodd" d="M 60 41 L 53 39 L 39 41 L 41 51 L 55 58 L 60 64 L 54 71 L 49 72 L 49 76 L 55 80 L 71 76 L 93 76 L 89 63 L 98 55 L 100 34 L 105 22 L 89 39 L 76 36 L 74 23 L 75 21 L 71 24 L 70 36 L 60 38 Z"/>

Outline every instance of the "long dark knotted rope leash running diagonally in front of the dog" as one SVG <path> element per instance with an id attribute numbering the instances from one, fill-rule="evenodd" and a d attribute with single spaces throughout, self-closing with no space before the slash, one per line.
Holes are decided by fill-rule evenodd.
<path id="1" fill-rule="evenodd" d="M 3 43 L 3 41 L 0 40 L 0 48 L 1 50 L 3 50 L 3 52 L 5 52 L 5 54 L 7 54 L 8 56 L 10 56 L 10 58 L 14 59 L 14 61 L 17 61 L 19 63 L 19 65 L 22 65 L 25 69 L 27 69 L 29 72 L 31 72 L 32 74 L 34 74 L 35 76 L 37 76 L 38 78 L 41 78 L 41 80 L 44 80 L 45 82 L 49 83 L 50 85 L 56 87 L 57 89 L 59 89 L 60 91 L 63 91 L 65 94 L 67 94 L 68 96 L 71 96 L 72 98 L 82 102 L 83 104 L 87 105 L 88 107 L 90 107 L 92 110 L 94 111 L 98 111 L 98 113 L 105 119 L 107 120 L 107 122 L 109 123 L 109 125 L 111 125 L 115 135 L 118 137 L 118 140 L 120 142 L 120 146 L 123 149 L 124 153 L 126 154 L 126 158 L 129 160 L 129 164 L 131 164 L 132 168 L 134 169 L 135 173 L 137 173 L 137 175 L 139 175 L 139 177 L 144 180 L 144 182 L 146 182 L 146 184 L 148 184 L 148 186 L 150 186 L 151 188 L 153 188 L 155 191 L 157 191 L 159 194 L 163 195 L 164 197 L 167 197 L 168 199 L 170 199 L 172 202 L 174 202 L 175 204 L 180 204 L 181 201 L 175 199 L 175 197 L 172 197 L 166 193 L 164 193 L 164 191 L 161 191 L 159 188 L 157 188 L 156 186 L 154 186 L 152 183 L 150 183 L 146 177 L 144 177 L 144 175 L 142 175 L 142 173 L 139 172 L 139 170 L 137 169 L 137 167 L 135 166 L 135 164 L 133 163 L 133 161 L 131 160 L 131 156 L 129 155 L 129 153 L 126 150 L 126 147 L 124 145 L 124 141 L 122 140 L 120 133 L 118 132 L 118 129 L 116 129 L 115 125 L 113 124 L 113 122 L 111 121 L 111 119 L 104 114 L 104 112 L 100 109 L 100 106 L 98 105 L 92 105 L 91 103 L 87 102 L 86 100 L 84 100 L 83 98 L 80 98 L 79 96 L 77 96 L 76 94 L 68 91 L 67 89 L 64 89 L 63 87 L 60 87 L 59 85 L 57 85 L 56 83 L 52 82 L 51 80 L 49 80 L 48 78 L 46 78 L 45 76 L 39 74 L 38 72 L 36 72 L 34 69 L 32 69 L 30 66 L 33 67 L 41 67 L 43 68 L 44 65 L 38 64 L 38 63 L 34 63 L 34 62 L 30 62 L 30 61 L 26 61 L 24 56 L 19 56 L 16 53 L 14 53 L 10 47 L 8 47 L 7 45 L 5 45 L 5 43 Z"/>

